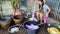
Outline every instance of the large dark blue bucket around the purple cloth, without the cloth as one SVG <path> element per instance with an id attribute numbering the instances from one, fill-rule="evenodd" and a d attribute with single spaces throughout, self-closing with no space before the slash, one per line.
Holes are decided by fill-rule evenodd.
<path id="1" fill-rule="evenodd" d="M 29 30 L 29 29 L 25 26 L 26 24 L 28 24 L 28 25 L 30 25 L 30 24 L 38 25 L 38 24 L 40 24 L 40 23 L 38 23 L 38 22 L 36 22 L 36 21 L 25 21 L 24 24 L 23 24 L 23 27 L 24 27 L 24 29 L 26 30 L 27 34 L 37 34 L 37 31 L 38 31 L 39 28 L 36 29 L 36 30 Z M 38 25 L 38 26 L 40 26 L 40 25 Z"/>

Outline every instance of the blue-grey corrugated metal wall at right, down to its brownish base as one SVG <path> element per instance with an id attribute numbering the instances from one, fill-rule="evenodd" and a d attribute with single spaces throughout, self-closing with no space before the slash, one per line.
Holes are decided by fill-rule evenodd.
<path id="1" fill-rule="evenodd" d="M 46 4 L 52 9 L 51 17 L 60 20 L 60 0 L 46 0 Z"/>

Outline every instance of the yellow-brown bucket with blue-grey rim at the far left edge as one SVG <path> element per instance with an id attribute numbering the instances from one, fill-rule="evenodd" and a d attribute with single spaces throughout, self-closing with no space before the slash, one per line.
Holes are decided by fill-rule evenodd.
<path id="1" fill-rule="evenodd" d="M 10 17 L 3 17 L 3 19 L 0 20 L 1 27 L 3 29 L 7 29 L 10 27 L 11 18 Z"/>

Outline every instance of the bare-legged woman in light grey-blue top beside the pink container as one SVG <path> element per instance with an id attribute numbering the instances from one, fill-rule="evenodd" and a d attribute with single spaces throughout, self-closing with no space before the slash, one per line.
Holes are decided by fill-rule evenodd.
<path id="1" fill-rule="evenodd" d="M 42 22 L 43 19 L 47 18 L 51 9 L 48 7 L 48 5 L 45 4 L 45 1 L 38 0 L 39 2 L 39 9 L 36 10 L 36 16 L 40 22 Z"/>

